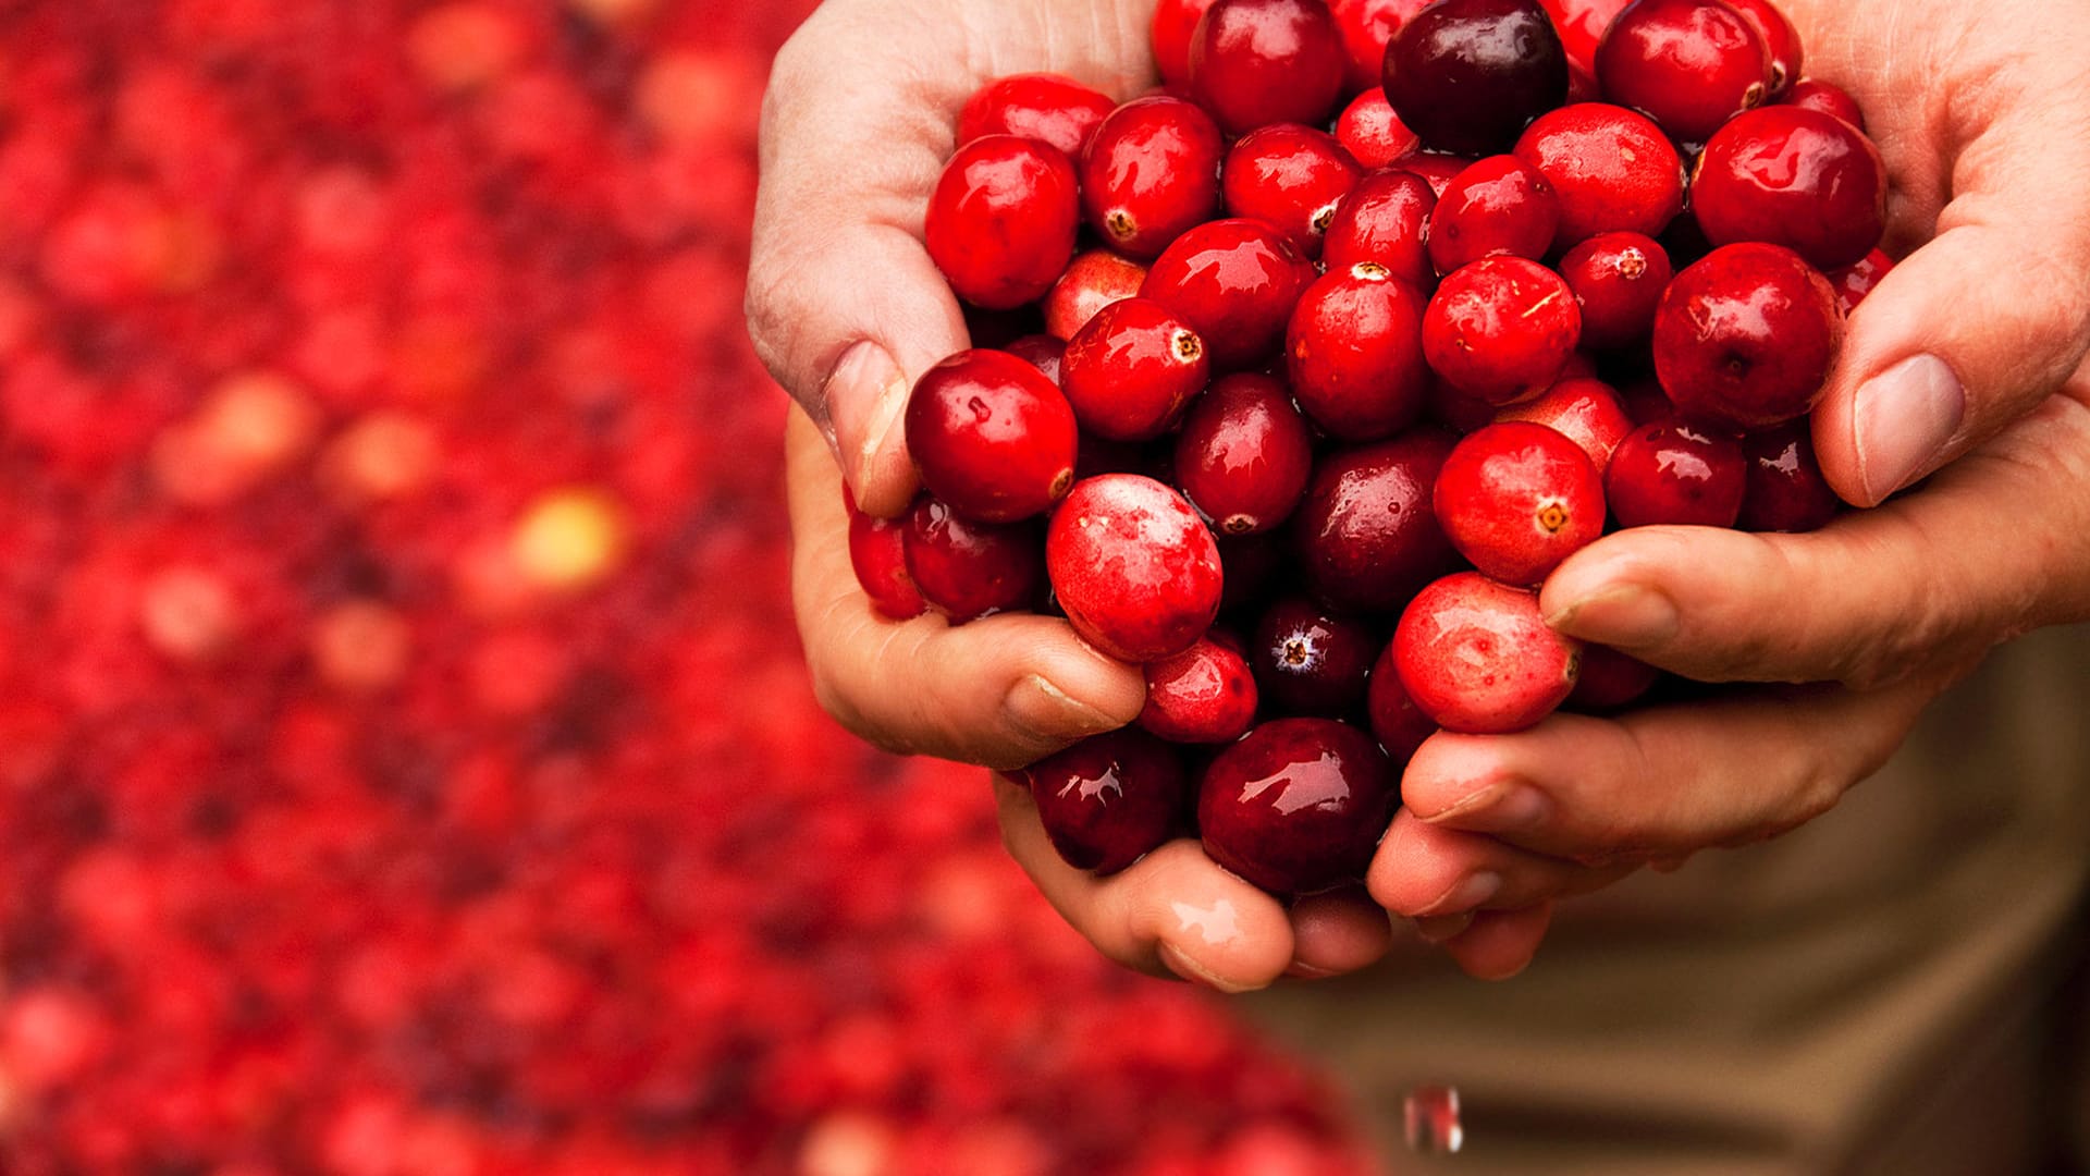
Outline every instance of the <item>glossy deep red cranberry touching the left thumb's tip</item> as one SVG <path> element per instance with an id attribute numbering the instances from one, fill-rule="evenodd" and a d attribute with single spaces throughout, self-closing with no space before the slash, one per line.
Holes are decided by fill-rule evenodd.
<path id="1" fill-rule="evenodd" d="M 907 400 L 922 485 L 982 523 L 1043 513 L 1074 483 L 1074 410 L 1060 385 L 1007 352 L 959 352 Z"/>

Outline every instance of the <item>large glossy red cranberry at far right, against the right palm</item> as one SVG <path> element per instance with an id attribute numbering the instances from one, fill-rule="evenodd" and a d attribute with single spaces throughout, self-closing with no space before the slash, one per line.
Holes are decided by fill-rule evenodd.
<path id="1" fill-rule="evenodd" d="M 1768 241 L 1816 270 L 1862 259 L 1887 228 L 1887 165 L 1848 121 L 1764 107 L 1720 128 L 1691 176 L 1691 213 L 1714 245 Z"/>

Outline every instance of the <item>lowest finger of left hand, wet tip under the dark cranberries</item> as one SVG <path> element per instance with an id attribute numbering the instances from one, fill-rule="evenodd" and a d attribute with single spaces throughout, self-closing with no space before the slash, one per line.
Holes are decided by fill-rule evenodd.
<path id="1" fill-rule="evenodd" d="M 1053 852 L 1028 787 L 997 774 L 995 799 L 1009 856 L 1045 902 L 1112 960 L 1218 992 L 1267 988 L 1292 963 L 1285 908 L 1214 866 L 1195 841 L 1170 841 L 1116 875 L 1095 877 Z"/>

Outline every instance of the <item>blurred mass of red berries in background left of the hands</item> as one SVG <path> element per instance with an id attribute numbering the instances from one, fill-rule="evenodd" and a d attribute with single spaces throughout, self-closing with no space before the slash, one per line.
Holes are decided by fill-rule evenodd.
<path id="1" fill-rule="evenodd" d="M 813 705 L 807 8 L 0 4 L 0 1170 L 1367 1166 Z"/>

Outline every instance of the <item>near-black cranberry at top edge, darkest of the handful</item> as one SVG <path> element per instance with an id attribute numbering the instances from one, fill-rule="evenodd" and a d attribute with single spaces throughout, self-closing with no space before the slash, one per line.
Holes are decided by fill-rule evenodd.
<path id="1" fill-rule="evenodd" d="M 1386 100 L 1438 151 L 1507 151 L 1568 98 L 1568 54 L 1536 0 L 1440 0 L 1386 46 Z"/>

